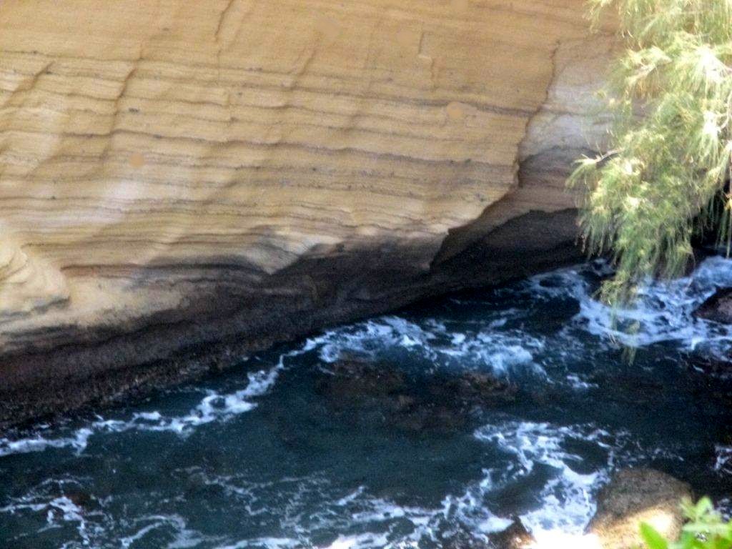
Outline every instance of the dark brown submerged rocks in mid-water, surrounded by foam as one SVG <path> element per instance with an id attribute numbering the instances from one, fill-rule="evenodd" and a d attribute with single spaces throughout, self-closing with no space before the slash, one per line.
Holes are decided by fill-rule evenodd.
<path id="1" fill-rule="evenodd" d="M 451 433 L 474 423 L 482 408 L 515 401 L 517 389 L 488 373 L 406 376 L 394 365 L 343 359 L 329 365 L 315 390 L 337 411 L 358 411 L 411 433 Z"/>

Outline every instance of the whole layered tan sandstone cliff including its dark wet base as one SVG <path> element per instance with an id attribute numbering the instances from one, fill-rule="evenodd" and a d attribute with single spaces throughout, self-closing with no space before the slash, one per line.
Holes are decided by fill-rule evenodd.
<path id="1" fill-rule="evenodd" d="M 574 256 L 582 11 L 4 1 L 0 423 Z"/>

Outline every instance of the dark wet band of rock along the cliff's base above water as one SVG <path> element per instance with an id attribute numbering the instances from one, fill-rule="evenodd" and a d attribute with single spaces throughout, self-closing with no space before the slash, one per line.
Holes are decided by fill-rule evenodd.
<path id="1" fill-rule="evenodd" d="M 144 318 L 124 332 L 68 326 L 65 334 L 56 329 L 58 337 L 76 343 L 54 346 L 44 335 L 38 343 L 51 346 L 31 338 L 5 351 L 0 427 L 144 395 L 329 326 L 578 261 L 573 219 L 572 210 L 526 214 L 426 270 L 405 269 L 405 254 L 414 249 L 313 258 L 258 283 L 242 269 L 218 268 L 209 274 L 214 282 L 199 284 L 169 315 Z"/>

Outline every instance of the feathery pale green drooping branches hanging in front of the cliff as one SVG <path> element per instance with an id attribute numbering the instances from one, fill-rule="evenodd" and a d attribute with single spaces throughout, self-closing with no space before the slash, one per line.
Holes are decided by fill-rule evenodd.
<path id="1" fill-rule="evenodd" d="M 605 299 L 632 299 L 643 278 L 679 275 L 692 237 L 732 234 L 732 0 L 590 0 L 618 15 L 627 50 L 602 94 L 613 114 L 605 154 L 584 158 L 580 225 L 591 253 L 610 253 Z M 606 13 L 606 12 L 615 12 Z"/>

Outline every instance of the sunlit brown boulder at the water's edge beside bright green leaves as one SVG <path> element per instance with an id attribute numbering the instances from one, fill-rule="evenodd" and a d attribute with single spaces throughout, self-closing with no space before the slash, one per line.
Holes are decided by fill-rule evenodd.
<path id="1" fill-rule="evenodd" d="M 692 498 L 685 482 L 653 469 L 619 471 L 597 496 L 597 512 L 588 530 L 602 549 L 635 549 L 642 545 L 641 523 L 649 523 L 668 539 L 681 534 L 679 504 Z"/>

